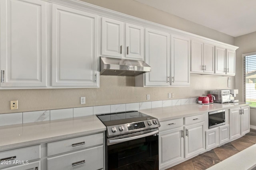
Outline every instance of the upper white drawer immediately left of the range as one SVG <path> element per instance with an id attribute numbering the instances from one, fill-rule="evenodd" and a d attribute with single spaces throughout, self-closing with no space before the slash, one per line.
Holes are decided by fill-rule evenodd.
<path id="1" fill-rule="evenodd" d="M 47 143 L 47 156 L 103 144 L 103 133 Z"/>

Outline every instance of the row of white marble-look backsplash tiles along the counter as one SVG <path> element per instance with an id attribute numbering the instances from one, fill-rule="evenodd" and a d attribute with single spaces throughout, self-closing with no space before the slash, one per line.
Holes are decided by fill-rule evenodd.
<path id="1" fill-rule="evenodd" d="M 0 114 L 0 126 L 14 125 L 21 123 L 31 123 L 38 121 L 50 121 L 73 117 L 97 115 L 102 113 L 115 113 L 121 111 L 132 111 L 141 109 L 151 109 L 156 107 L 179 106 L 185 104 L 195 104 L 196 98 L 158 100 L 150 102 L 138 102 L 128 104 L 114 104 L 104 106 L 76 107 L 68 109 L 54 109 L 43 111 L 29 111 L 21 113 Z"/>

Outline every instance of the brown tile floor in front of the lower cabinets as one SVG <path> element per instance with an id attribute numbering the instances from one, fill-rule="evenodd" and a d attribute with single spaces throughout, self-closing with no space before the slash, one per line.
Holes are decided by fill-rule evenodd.
<path id="1" fill-rule="evenodd" d="M 250 129 L 250 133 L 226 143 L 220 147 L 204 152 L 190 160 L 182 162 L 167 170 L 206 170 L 207 168 L 221 162 L 222 160 L 244 150 L 256 143 L 256 130 Z"/>

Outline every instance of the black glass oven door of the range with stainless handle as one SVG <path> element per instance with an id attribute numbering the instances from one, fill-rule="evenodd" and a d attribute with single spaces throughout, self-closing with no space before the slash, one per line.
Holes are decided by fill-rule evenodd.
<path id="1" fill-rule="evenodd" d="M 158 170 L 158 130 L 107 139 L 107 170 Z"/>

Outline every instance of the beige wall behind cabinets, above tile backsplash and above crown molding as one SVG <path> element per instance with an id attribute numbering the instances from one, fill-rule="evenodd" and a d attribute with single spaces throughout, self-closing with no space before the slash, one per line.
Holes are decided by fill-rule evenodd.
<path id="1" fill-rule="evenodd" d="M 133 0 L 83 1 L 234 45 L 232 36 Z M 144 102 L 146 94 L 150 94 L 151 101 L 168 100 L 170 92 L 175 93 L 175 99 L 192 98 L 206 95 L 210 89 L 227 88 L 227 79 L 226 76 L 192 74 L 189 87 L 142 88 L 134 87 L 132 77 L 100 76 L 100 88 L 0 90 L 0 113 Z M 231 77 L 231 88 L 234 88 L 234 77 Z M 85 105 L 80 105 L 81 96 L 86 96 Z M 10 100 L 18 100 L 18 110 L 10 110 Z"/>

